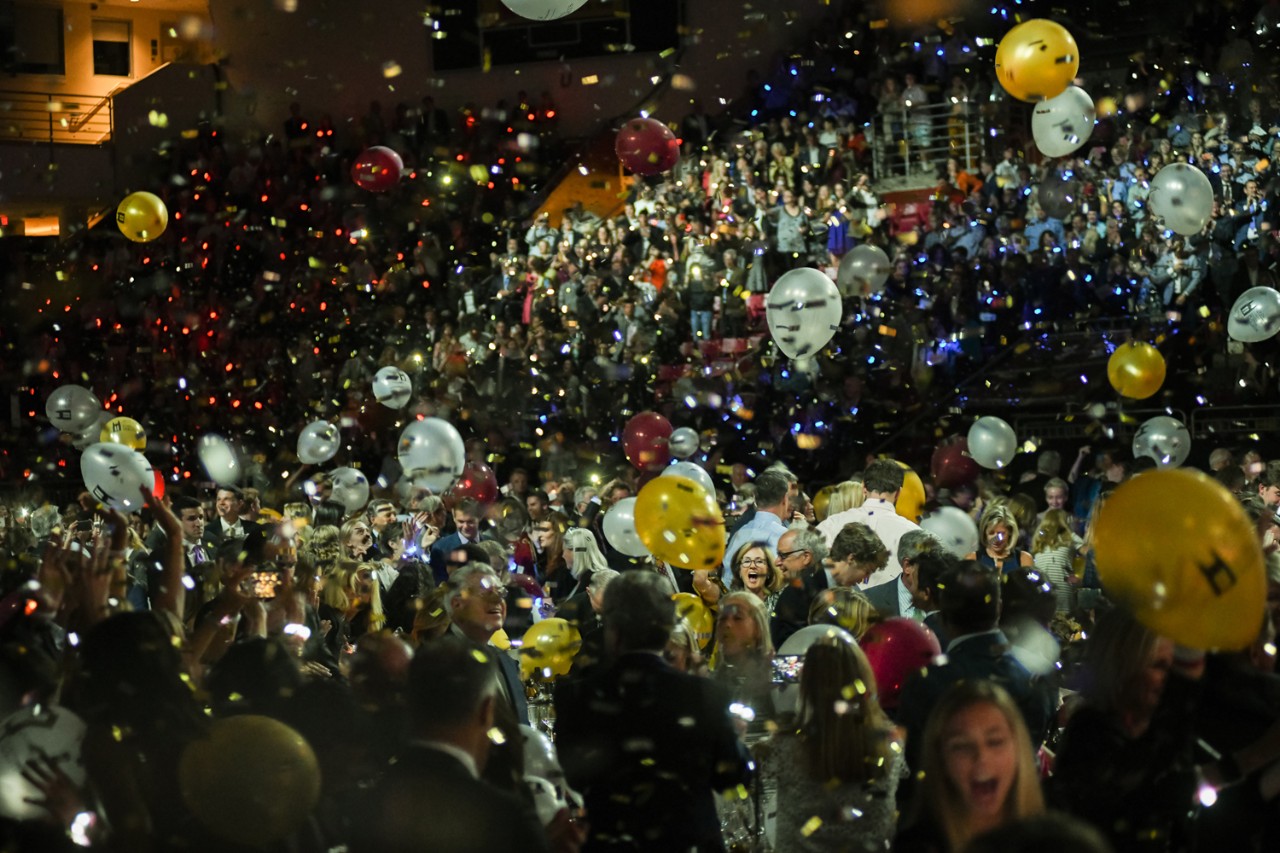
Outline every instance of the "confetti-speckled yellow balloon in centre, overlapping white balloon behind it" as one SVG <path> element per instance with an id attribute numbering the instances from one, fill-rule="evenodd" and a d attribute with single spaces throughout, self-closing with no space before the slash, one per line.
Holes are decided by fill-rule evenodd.
<path id="1" fill-rule="evenodd" d="M 649 480 L 635 506 L 636 533 L 649 553 L 677 569 L 718 569 L 724 516 L 716 498 L 685 476 Z"/>

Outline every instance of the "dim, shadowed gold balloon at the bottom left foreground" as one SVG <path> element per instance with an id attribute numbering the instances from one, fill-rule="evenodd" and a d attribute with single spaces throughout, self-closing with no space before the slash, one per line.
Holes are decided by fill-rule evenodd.
<path id="1" fill-rule="evenodd" d="M 252 713 L 215 720 L 178 762 L 182 799 L 219 838 L 260 848 L 296 831 L 320 800 L 320 765 L 302 735 Z"/>

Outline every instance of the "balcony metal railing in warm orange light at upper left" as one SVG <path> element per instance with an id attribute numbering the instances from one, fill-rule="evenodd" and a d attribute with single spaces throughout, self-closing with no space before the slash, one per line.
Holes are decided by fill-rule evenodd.
<path id="1" fill-rule="evenodd" d="M 0 90 L 0 141 L 100 145 L 114 129 L 113 95 Z"/>

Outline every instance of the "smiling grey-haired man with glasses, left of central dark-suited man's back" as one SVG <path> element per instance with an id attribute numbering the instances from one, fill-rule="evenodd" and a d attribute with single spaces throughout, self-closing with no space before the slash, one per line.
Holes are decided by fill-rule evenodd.
<path id="1" fill-rule="evenodd" d="M 495 661 L 500 678 L 498 688 L 511 703 L 516 719 L 529 725 L 529 703 L 520 683 L 520 666 L 506 652 L 490 644 L 507 620 L 507 587 L 490 566 L 470 562 L 449 579 L 449 634 L 483 647 Z"/>

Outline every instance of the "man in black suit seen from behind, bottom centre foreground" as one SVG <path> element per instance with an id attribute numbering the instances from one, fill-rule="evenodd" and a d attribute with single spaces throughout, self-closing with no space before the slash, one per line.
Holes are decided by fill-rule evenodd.
<path id="1" fill-rule="evenodd" d="M 663 660 L 676 611 L 658 575 L 609 583 L 603 617 L 614 663 L 556 690 L 561 763 L 586 799 L 584 849 L 723 850 L 712 792 L 750 779 L 728 694 Z"/>

